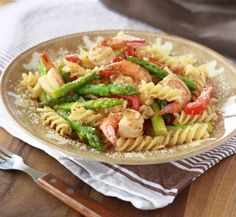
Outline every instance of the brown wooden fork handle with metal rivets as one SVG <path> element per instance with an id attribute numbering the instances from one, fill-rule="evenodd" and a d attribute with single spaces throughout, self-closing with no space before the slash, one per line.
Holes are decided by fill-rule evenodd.
<path id="1" fill-rule="evenodd" d="M 84 195 L 78 189 L 71 187 L 50 173 L 42 176 L 36 182 L 40 188 L 84 216 L 117 217 L 117 215 L 110 212 L 102 204 Z"/>

